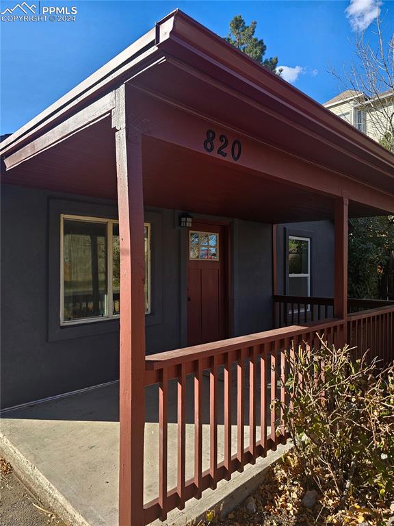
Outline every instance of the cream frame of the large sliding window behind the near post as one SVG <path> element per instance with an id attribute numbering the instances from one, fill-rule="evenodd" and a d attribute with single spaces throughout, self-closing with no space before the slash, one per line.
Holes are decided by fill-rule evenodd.
<path id="1" fill-rule="evenodd" d="M 77 320 L 64 320 L 64 219 L 71 219 L 73 221 L 91 221 L 92 223 L 105 223 L 107 225 L 107 298 L 106 298 L 106 316 L 92 316 L 90 318 L 78 318 Z M 119 314 L 113 313 L 113 308 L 109 308 L 109 298 L 113 296 L 112 271 L 113 271 L 113 225 L 118 225 L 119 221 L 116 219 L 108 219 L 103 217 L 92 216 L 76 216 L 70 214 L 60 214 L 60 325 L 68 327 L 70 325 L 81 325 L 85 323 L 96 323 L 98 321 L 109 321 L 120 318 Z M 148 309 L 145 314 L 150 314 L 150 223 L 144 223 L 148 227 Z"/>

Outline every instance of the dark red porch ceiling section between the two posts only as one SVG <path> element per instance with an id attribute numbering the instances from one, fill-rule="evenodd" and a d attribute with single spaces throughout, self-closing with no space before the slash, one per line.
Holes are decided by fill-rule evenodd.
<path id="1" fill-rule="evenodd" d="M 144 142 L 143 172 L 145 201 L 150 205 L 265 223 L 333 215 L 328 196 L 151 138 Z"/>

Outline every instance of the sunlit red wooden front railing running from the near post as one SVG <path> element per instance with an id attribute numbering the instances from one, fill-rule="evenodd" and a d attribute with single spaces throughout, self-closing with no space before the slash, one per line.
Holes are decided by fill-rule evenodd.
<path id="1" fill-rule="evenodd" d="M 278 381 L 285 380 L 288 374 L 285 351 L 291 349 L 291 342 L 295 345 L 305 345 L 303 342 L 319 345 L 317 335 L 324 335 L 328 343 L 335 342 L 343 337 L 343 330 L 343 321 L 330 320 L 147 356 L 145 384 L 159 384 L 159 490 L 157 499 L 144 505 L 144 523 L 148 524 L 156 518 L 165 520 L 170 510 L 176 507 L 182 509 L 185 501 L 200 497 L 205 489 L 215 488 L 218 481 L 230 479 L 232 473 L 242 471 L 245 464 L 253 464 L 258 457 L 265 456 L 267 451 L 275 450 L 279 443 L 285 443 L 287 436 L 283 414 L 272 404 L 275 399 L 286 403 L 285 388 Z M 176 381 L 177 391 L 176 451 L 168 451 L 170 381 Z M 191 396 L 188 391 L 187 396 L 187 384 L 190 386 L 190 381 L 194 393 Z M 223 382 L 220 391 L 219 381 Z M 219 396 L 220 392 L 222 396 Z M 203 400 L 207 399 L 207 395 L 209 468 L 204 470 L 202 410 Z M 187 403 L 193 405 L 193 451 L 190 451 L 190 446 L 186 449 Z M 224 436 L 220 452 L 219 414 Z M 234 427 L 236 435 L 232 434 Z M 233 436 L 236 436 L 234 450 Z M 169 454 L 171 462 L 175 462 L 177 466 L 174 488 L 168 488 Z M 194 462 L 194 475 L 189 479 L 186 478 L 185 468 L 187 455 L 193 455 Z"/>

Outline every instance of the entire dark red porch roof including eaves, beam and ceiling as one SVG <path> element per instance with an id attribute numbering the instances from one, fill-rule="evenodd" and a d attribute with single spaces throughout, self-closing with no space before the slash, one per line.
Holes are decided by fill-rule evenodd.
<path id="1" fill-rule="evenodd" d="M 235 216 L 280 222 L 332 217 L 342 195 L 353 216 L 394 212 L 391 153 L 179 10 L 6 138 L 3 181 L 115 199 L 122 83 L 144 134 L 147 204 L 222 215 L 238 204 Z M 213 158 L 203 138 L 198 150 L 190 123 L 224 127 L 253 161 Z"/>

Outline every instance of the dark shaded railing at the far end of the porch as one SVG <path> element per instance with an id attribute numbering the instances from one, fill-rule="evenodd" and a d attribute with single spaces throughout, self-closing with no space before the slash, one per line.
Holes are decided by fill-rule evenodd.
<path id="1" fill-rule="evenodd" d="M 347 300 L 347 312 L 363 312 L 394 305 L 394 301 L 380 299 Z M 334 299 L 323 297 L 274 295 L 274 327 L 300 325 L 334 317 Z"/>

